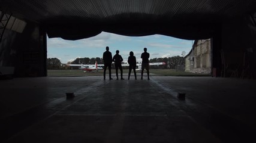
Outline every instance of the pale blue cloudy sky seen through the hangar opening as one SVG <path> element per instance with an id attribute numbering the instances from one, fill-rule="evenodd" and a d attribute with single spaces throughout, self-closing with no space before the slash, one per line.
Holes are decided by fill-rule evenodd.
<path id="1" fill-rule="evenodd" d="M 144 47 L 147 48 L 147 52 L 150 54 L 149 58 L 164 58 L 175 55 L 182 56 L 182 51 L 188 54 L 192 48 L 192 42 L 194 41 L 163 35 L 130 37 L 102 32 L 92 38 L 77 41 L 48 38 L 47 58 L 59 58 L 61 63 L 64 64 L 68 61 L 73 61 L 77 57 L 102 58 L 103 52 L 106 51 L 106 46 L 109 46 L 109 51 L 112 52 L 112 55 L 115 55 L 118 49 L 125 62 L 129 57 L 130 51 L 134 52 L 137 61 L 140 62 L 140 55 Z"/>

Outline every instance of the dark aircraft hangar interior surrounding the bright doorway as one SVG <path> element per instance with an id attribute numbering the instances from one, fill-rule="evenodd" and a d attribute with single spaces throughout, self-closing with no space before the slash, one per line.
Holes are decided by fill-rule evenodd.
<path id="1" fill-rule="evenodd" d="M 0 0 L 0 20 L 4 142 L 255 141 L 254 0 Z M 212 77 L 47 78 L 47 36 L 101 32 L 211 39 Z M 232 64 L 247 79 L 223 76 Z"/>

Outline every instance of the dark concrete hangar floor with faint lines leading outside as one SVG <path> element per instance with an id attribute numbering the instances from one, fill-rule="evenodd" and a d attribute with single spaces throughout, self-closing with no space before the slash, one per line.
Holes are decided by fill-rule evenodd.
<path id="1" fill-rule="evenodd" d="M 256 80 L 36 77 L 0 80 L 0 89 L 0 142 L 256 140 Z"/>

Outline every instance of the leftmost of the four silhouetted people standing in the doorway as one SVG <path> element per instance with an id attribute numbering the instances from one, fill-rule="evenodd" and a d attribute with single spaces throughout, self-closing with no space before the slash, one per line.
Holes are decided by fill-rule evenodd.
<path id="1" fill-rule="evenodd" d="M 106 79 L 106 70 L 109 67 L 109 80 L 111 78 L 111 65 L 112 65 L 112 53 L 109 51 L 109 46 L 106 46 L 106 52 L 103 53 L 103 62 L 104 62 L 104 80 Z"/>

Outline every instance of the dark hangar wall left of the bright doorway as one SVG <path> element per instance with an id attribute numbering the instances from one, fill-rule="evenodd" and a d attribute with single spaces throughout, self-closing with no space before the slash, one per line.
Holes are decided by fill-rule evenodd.
<path id="1" fill-rule="evenodd" d="M 0 67 L 14 67 L 14 77 L 47 76 L 46 32 L 26 22 L 22 33 L 5 29 L 0 42 Z"/>

